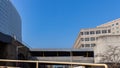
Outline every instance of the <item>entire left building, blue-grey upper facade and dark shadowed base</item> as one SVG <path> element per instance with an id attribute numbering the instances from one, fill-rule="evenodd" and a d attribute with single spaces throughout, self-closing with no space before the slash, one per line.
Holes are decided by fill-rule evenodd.
<path id="1" fill-rule="evenodd" d="M 0 59 L 28 59 L 29 49 L 22 43 L 21 24 L 11 0 L 0 0 Z M 0 62 L 0 66 L 6 65 L 15 63 Z"/>

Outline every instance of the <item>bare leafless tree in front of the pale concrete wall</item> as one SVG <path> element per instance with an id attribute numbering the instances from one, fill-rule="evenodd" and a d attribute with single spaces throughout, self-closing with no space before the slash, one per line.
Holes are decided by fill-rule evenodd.
<path id="1" fill-rule="evenodd" d="M 107 63 L 109 68 L 120 68 L 120 46 L 108 46 L 108 49 L 99 54 L 100 62 Z"/>

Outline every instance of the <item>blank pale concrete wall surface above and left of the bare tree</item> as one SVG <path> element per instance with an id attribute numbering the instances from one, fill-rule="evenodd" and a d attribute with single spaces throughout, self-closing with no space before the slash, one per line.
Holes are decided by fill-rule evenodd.
<path id="1" fill-rule="evenodd" d="M 94 48 L 95 63 L 100 63 L 101 57 L 97 55 L 105 53 L 108 46 L 120 46 L 120 35 L 106 35 L 98 38 L 97 46 Z"/>

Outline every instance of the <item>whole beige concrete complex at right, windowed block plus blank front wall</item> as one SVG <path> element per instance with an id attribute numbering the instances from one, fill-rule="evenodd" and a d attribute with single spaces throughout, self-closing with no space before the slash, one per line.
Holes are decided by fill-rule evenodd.
<path id="1" fill-rule="evenodd" d="M 96 28 L 81 29 L 73 48 L 93 49 L 94 63 L 102 63 L 101 54 L 107 53 L 109 46 L 120 47 L 120 19 Z"/>

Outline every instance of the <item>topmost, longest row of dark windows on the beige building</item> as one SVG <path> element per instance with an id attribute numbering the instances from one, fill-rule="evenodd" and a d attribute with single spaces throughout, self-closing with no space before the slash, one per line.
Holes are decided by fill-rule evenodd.
<path id="1" fill-rule="evenodd" d="M 81 35 L 92 35 L 92 34 L 104 34 L 104 33 L 111 33 L 111 30 L 97 30 L 97 31 L 86 31 L 81 32 Z"/>

